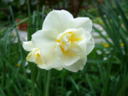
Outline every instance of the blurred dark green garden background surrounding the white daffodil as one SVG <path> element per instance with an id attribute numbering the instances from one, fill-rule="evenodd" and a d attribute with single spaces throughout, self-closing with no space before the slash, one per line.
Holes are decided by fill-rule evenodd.
<path id="1" fill-rule="evenodd" d="M 127 0 L 0 1 L 0 96 L 128 96 L 127 5 Z M 105 30 L 93 26 L 103 42 L 96 42 L 80 72 L 46 71 L 26 62 L 19 30 L 30 40 L 53 9 L 88 16 Z"/>

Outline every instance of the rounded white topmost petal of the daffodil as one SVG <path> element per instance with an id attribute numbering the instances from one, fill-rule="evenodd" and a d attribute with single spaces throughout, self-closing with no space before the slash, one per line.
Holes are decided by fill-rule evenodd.
<path id="1" fill-rule="evenodd" d="M 53 29 L 57 33 L 61 33 L 70 27 L 72 20 L 73 16 L 68 11 L 53 10 L 46 16 L 42 28 L 43 30 L 51 30 L 51 34 L 54 34 L 52 33 Z"/>

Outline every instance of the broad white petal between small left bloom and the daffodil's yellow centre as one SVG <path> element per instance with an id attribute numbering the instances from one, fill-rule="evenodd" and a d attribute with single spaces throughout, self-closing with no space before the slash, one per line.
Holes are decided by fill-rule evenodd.
<path id="1" fill-rule="evenodd" d="M 48 34 L 47 34 L 48 35 Z M 56 41 L 46 36 L 45 32 L 40 30 L 32 35 L 32 42 L 36 48 L 40 49 L 42 64 L 38 66 L 42 69 L 51 68 L 62 69 L 56 52 Z"/>

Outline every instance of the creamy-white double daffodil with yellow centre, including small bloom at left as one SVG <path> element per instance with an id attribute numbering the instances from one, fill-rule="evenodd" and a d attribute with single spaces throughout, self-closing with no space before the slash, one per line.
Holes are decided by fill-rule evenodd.
<path id="1" fill-rule="evenodd" d="M 53 10 L 32 40 L 23 42 L 24 49 L 30 51 L 27 61 L 46 70 L 82 70 L 94 48 L 91 31 L 92 21 L 88 17 L 73 18 L 66 10 Z"/>

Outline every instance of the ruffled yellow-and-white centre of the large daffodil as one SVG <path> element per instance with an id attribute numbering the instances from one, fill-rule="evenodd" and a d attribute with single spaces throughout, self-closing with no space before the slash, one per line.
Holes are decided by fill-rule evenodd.
<path id="1" fill-rule="evenodd" d="M 75 32 L 69 31 L 60 34 L 57 39 L 57 45 L 60 47 L 62 53 L 66 53 L 69 51 L 69 48 L 74 42 L 78 42 L 82 40 L 81 36 L 78 36 Z"/>

